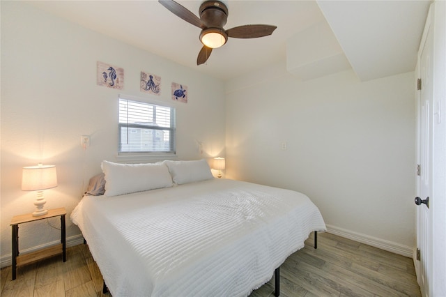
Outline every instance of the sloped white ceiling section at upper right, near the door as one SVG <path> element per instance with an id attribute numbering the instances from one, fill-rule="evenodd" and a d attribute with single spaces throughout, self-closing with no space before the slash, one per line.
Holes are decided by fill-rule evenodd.
<path id="1" fill-rule="evenodd" d="M 431 1 L 319 1 L 361 80 L 415 69 Z"/>

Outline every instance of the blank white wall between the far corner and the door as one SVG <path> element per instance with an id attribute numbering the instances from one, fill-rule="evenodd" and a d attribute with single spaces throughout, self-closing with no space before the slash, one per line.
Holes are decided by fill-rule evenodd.
<path id="1" fill-rule="evenodd" d="M 226 176 L 303 192 L 331 231 L 411 255 L 414 73 L 300 82 L 284 69 L 226 84 Z"/>

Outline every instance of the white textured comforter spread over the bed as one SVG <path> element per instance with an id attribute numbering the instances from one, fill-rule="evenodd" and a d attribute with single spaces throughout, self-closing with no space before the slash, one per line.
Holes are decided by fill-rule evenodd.
<path id="1" fill-rule="evenodd" d="M 307 196 L 227 179 L 86 196 L 71 220 L 114 297 L 247 296 L 325 231 Z"/>

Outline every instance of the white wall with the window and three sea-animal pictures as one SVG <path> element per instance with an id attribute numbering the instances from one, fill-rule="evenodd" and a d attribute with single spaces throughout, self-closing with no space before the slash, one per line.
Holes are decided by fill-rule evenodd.
<path id="1" fill-rule="evenodd" d="M 144 36 L 141 36 L 144 38 Z M 154 40 L 156 42 L 156 40 Z M 124 68 L 124 89 L 96 85 L 96 62 Z M 21 1 L 1 1 L 1 259 L 10 259 L 10 220 L 33 211 L 22 192 L 22 167 L 56 165 L 59 185 L 46 190 L 46 208 L 76 206 L 102 160 L 116 161 L 118 93 L 139 91 L 140 71 L 162 77 L 158 100 L 173 102 L 171 82 L 188 86 L 177 108 L 179 160 L 224 154 L 224 86 L 171 61 L 44 13 Z M 83 151 L 81 135 L 91 135 Z M 203 154 L 198 142 L 203 143 Z M 79 235 L 68 222 L 67 237 Z M 50 220 L 59 225 L 58 219 Z M 57 241 L 45 220 L 20 225 L 20 249 Z M 59 239 L 60 240 L 60 239 Z M 8 258 L 9 257 L 9 258 Z"/>

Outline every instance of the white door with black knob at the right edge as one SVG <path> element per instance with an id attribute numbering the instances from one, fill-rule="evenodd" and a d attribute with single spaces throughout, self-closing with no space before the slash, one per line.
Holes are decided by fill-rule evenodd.
<path id="1" fill-rule="evenodd" d="M 433 150 L 433 29 L 431 22 L 426 22 L 426 30 L 423 38 L 422 52 L 420 55 L 421 93 L 419 109 L 419 160 L 420 160 L 420 181 L 418 197 L 415 203 L 418 204 L 418 231 L 417 247 L 420 249 L 420 287 L 422 296 L 429 296 L 429 271 L 432 266 L 431 252 L 431 218 L 428 197 L 431 197 L 432 187 L 432 150 Z"/>

